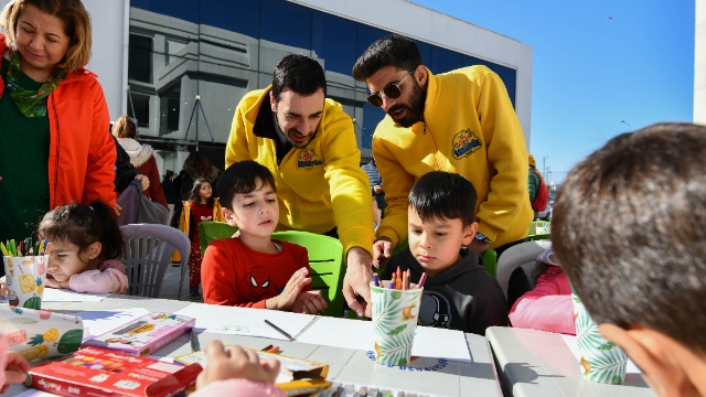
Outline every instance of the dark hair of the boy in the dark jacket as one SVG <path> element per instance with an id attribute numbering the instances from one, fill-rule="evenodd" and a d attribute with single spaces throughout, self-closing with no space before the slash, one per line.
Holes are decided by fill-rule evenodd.
<path id="1" fill-rule="evenodd" d="M 461 219 L 463 227 L 475 222 L 475 189 L 466 178 L 451 172 L 432 171 L 419 179 L 409 192 L 407 205 L 422 222 Z"/>

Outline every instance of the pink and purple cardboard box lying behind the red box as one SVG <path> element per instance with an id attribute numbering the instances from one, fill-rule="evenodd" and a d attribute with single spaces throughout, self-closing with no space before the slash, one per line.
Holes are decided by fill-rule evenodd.
<path id="1" fill-rule="evenodd" d="M 154 312 L 142 315 L 118 329 L 107 332 L 83 346 L 100 347 L 145 356 L 153 354 L 183 335 L 196 323 L 185 315 Z"/>

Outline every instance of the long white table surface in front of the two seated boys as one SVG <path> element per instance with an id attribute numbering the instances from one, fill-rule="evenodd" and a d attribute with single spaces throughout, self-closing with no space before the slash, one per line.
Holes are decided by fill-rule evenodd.
<path id="1" fill-rule="evenodd" d="M 174 312 L 189 304 L 190 302 L 175 300 L 113 296 L 100 302 L 45 303 L 43 309 L 61 313 L 74 313 L 78 311 L 139 307 L 148 311 Z M 345 326 L 346 322 L 359 320 L 339 319 L 338 321 L 341 322 L 340 326 Z M 483 336 L 475 334 L 466 334 L 466 339 L 471 350 L 473 362 L 447 361 L 445 363 L 446 366 L 438 371 L 403 371 L 398 367 L 389 368 L 375 363 L 374 360 L 368 357 L 367 352 L 350 348 L 205 332 L 197 334 L 200 345 L 197 348 L 205 347 L 206 343 L 211 340 L 221 340 L 226 344 L 239 344 L 253 348 L 263 348 L 268 344 L 275 344 L 280 346 L 281 354 L 284 355 L 329 364 L 328 378 L 332 380 L 374 385 L 392 389 L 414 390 L 419 393 L 419 395 L 502 396 L 488 342 Z M 153 354 L 175 357 L 191 352 L 190 339 L 188 335 L 183 335 Z M 421 360 L 438 362 L 431 358 L 419 358 L 418 361 Z M 24 386 L 15 385 L 10 388 L 7 395 L 14 396 L 24 390 Z"/>

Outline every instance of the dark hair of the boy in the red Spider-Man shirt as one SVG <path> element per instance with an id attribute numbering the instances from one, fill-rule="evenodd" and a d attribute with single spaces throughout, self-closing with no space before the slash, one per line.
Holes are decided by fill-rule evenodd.
<path id="1" fill-rule="evenodd" d="M 255 191 L 258 181 L 270 185 L 277 192 L 275 178 L 267 167 L 252 160 L 240 161 L 228 167 L 218 181 L 221 205 L 233 211 L 233 197 L 238 193 L 247 194 Z"/>

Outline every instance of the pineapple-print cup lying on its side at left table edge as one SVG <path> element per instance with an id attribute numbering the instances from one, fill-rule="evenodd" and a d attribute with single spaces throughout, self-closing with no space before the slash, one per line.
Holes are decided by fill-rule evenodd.
<path id="1" fill-rule="evenodd" d="M 26 360 L 75 352 L 84 336 L 84 323 L 75 315 L 0 305 L 0 319 L 8 348 Z"/>

